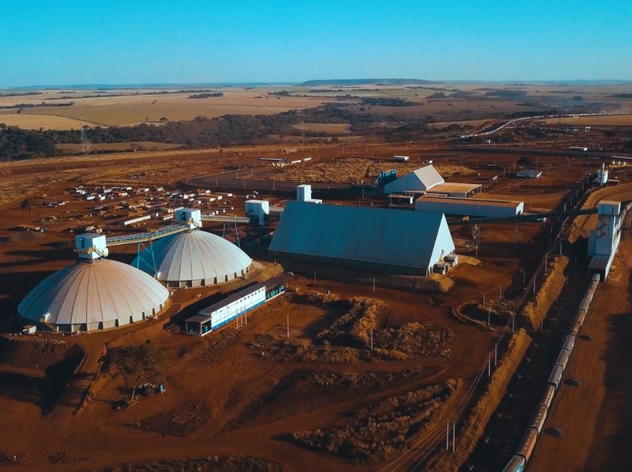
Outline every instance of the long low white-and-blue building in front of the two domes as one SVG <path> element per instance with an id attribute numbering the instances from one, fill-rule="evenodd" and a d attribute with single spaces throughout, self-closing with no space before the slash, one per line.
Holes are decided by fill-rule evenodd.
<path id="1" fill-rule="evenodd" d="M 247 286 L 245 289 L 200 310 L 197 315 L 187 318 L 185 331 L 189 334 L 205 336 L 220 326 L 224 326 L 263 305 L 266 301 L 283 294 L 285 288 L 285 280 L 282 277 Z"/>

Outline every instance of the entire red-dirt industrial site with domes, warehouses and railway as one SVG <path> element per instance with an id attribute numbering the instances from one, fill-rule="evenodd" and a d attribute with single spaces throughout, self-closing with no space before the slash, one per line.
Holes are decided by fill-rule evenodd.
<path id="1" fill-rule="evenodd" d="M 0 465 L 624 470 L 632 154 L 565 126 L 0 163 Z"/>

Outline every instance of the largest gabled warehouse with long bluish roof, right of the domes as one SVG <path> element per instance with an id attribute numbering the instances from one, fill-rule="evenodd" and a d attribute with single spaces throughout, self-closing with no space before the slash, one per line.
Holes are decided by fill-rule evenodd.
<path id="1" fill-rule="evenodd" d="M 440 213 L 289 202 L 269 248 L 280 258 L 427 275 L 454 252 Z"/>

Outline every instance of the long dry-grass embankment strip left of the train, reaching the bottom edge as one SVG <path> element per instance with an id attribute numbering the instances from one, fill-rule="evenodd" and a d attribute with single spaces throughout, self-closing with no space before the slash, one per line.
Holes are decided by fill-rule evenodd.
<path id="1" fill-rule="evenodd" d="M 494 414 L 505 395 L 507 385 L 516 368 L 521 363 L 531 338 L 523 329 L 516 331 L 509 341 L 507 352 L 491 375 L 483 395 L 474 405 L 459 427 L 459 439 L 454 452 L 438 452 L 425 464 L 425 471 L 458 471 L 462 463 L 474 451 L 474 447 L 483 436 L 489 418 Z"/>

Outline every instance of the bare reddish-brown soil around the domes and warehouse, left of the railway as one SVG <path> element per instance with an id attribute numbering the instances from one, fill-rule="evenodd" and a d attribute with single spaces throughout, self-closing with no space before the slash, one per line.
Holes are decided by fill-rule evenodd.
<path id="1" fill-rule="evenodd" d="M 286 97 L 278 102 L 283 104 L 284 100 Z M 0 431 L 0 452 L 9 461 L 16 456 L 23 470 L 83 471 L 174 458 L 247 454 L 266 463 L 278 463 L 288 471 L 388 470 L 388 461 L 369 465 L 363 460 L 356 464 L 355 456 L 325 451 L 318 441 L 314 449 L 297 441 L 295 434 L 360 430 L 367 423 L 366 417 L 357 412 L 379 411 L 386 421 L 393 414 L 386 407 L 388 402 L 400 404 L 411 392 L 426 392 L 439 388 L 437 385 L 456 382 L 450 384 L 458 385 L 450 390 L 450 395 L 442 395 L 445 404 L 432 409 L 432 421 L 418 422 L 418 426 L 427 428 L 422 436 L 443 431 L 445 420 L 455 405 L 467 397 L 498 336 L 480 324 L 457 318 L 453 309 L 465 302 L 478 302 L 482 296 L 487 300 L 511 300 L 521 294 L 525 289 L 521 271 L 529 270 L 535 258 L 534 248 L 547 241 L 549 226 L 545 222 L 521 223 L 518 232 L 512 223 L 483 225 L 478 248 L 473 245 L 471 225 L 452 225 L 457 253 L 476 257 L 482 263 L 459 264 L 450 270 L 447 277 L 454 285 L 447 293 L 381 286 L 374 289 L 370 283 L 295 276 L 289 281 L 292 291 L 249 315 L 247 326 L 227 326 L 204 338 L 185 336 L 177 325 L 210 304 L 209 298 L 217 295 L 215 287 L 176 291 L 173 304 L 160 318 L 116 331 L 35 338 L 10 334 L 19 326 L 16 308 L 23 296 L 38 281 L 74 259 L 72 238 L 80 227 L 103 225 L 109 234 L 160 227 L 158 222 L 131 230 L 108 227 L 110 218 L 125 212 L 117 209 L 107 217 L 98 215 L 94 213 L 97 204 L 72 194 L 72 186 L 93 188 L 120 183 L 134 188 L 167 186 L 183 191 L 191 188 L 185 186 L 187 178 L 208 176 L 213 187 L 213 181 L 229 175 L 229 180 L 239 186 L 244 184 L 244 191 L 235 191 L 234 197 L 227 198 L 227 205 L 234 207 L 230 213 L 243 215 L 242 197 L 254 188 L 252 178 L 268 180 L 271 173 L 258 158 L 283 156 L 282 149 L 283 146 L 244 146 L 138 151 L 0 164 L 0 190 L 6 189 L 0 201 L 0 326 L 7 334 L 0 342 L 0 408 L 6 412 L 7 424 L 20 425 L 19 429 Z M 361 179 L 374 176 L 383 166 L 388 168 L 387 161 L 393 154 L 410 154 L 420 161 L 432 159 L 440 171 L 450 173 L 452 169 L 450 180 L 484 185 L 481 196 L 524 200 L 525 209 L 534 211 L 555 208 L 577 178 L 599 166 L 599 161 L 547 156 L 538 161 L 545 171 L 543 178 L 521 181 L 511 175 L 521 154 L 473 153 L 450 148 L 445 142 L 432 142 L 299 146 L 295 155 L 312 156 L 312 161 L 295 169 L 309 172 L 320 169 L 318 166 L 333 166 L 325 174 L 329 176 L 349 172 L 337 167 L 340 161 L 363 161 L 358 173 Z M 414 167 L 414 163 L 405 166 L 408 171 Z M 236 176 L 236 169 L 241 169 L 241 178 Z M 251 178 L 246 178 L 248 171 Z M 498 179 L 494 180 L 494 176 Z M 260 194 L 273 204 L 293 198 L 287 193 L 263 190 Z M 33 203 L 21 208 L 26 198 L 33 198 Z M 45 206 L 47 201 L 59 200 L 64 205 Z M 111 204 L 122 205 L 123 200 L 130 198 L 121 197 Z M 358 202 L 337 196 L 327 201 L 388 205 L 383 198 Z M 21 225 L 37 225 L 46 231 L 25 231 Z M 274 223 L 268 231 L 273 227 Z M 219 235 L 224 229 L 221 224 L 205 224 L 205 230 Z M 265 244 L 258 245 L 252 233 L 256 233 L 256 228 L 239 228 L 244 247 L 262 267 L 273 267 Z M 234 239 L 232 234 L 228 237 Z M 121 262 L 129 263 L 136 255 L 136 247 L 112 249 L 110 257 Z M 613 275 L 616 274 L 621 272 Z M 317 304 L 308 298 L 310 291 L 329 291 L 339 302 Z M 353 342 L 319 337 L 320 333 L 332 331 L 332 326 L 336 328 L 337 320 L 349 312 L 349 301 L 358 296 L 383 304 L 371 321 L 375 323 L 376 348 L 384 343 L 396 345 L 395 350 L 404 352 L 406 336 L 417 340 L 414 336 L 427 333 L 423 339 L 437 349 L 420 349 L 408 358 L 371 353 L 365 328 L 359 329 Z M 408 326 L 408 331 L 403 326 Z M 353 328 L 339 331 L 345 330 Z M 58 344 L 60 340 L 63 344 Z M 108 347 L 138 345 L 146 340 L 165 350 L 167 390 L 163 395 L 141 397 L 129 409 L 114 409 L 113 405 L 121 399 L 121 382 L 97 378 L 97 360 Z M 344 362 L 308 359 L 295 355 L 298 350 L 288 355 L 288 343 L 297 340 L 307 347 L 317 346 L 318 355 L 325 351 L 344 354 L 349 350 L 353 353 L 352 362 L 347 362 L 348 357 L 342 354 L 328 355 L 327 359 Z M 77 375 L 69 375 L 77 365 Z M 70 385 L 64 389 L 66 381 Z M 419 395 L 422 398 L 425 394 Z M 426 407 L 415 412 L 430 412 Z M 315 434 L 314 438 L 318 437 Z M 395 441 L 397 454 L 403 451 L 401 445 L 414 437 L 412 431 L 408 437 Z M 380 460 L 392 457 L 391 452 L 386 452 Z M 393 470 L 404 470 L 413 462 L 412 458 L 405 458 Z"/>

